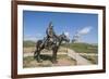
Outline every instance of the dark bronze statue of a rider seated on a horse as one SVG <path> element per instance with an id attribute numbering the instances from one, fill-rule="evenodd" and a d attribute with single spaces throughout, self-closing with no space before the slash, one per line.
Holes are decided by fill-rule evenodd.
<path id="1" fill-rule="evenodd" d="M 70 39 L 66 37 L 66 35 L 61 34 L 60 36 L 57 36 L 52 23 L 49 23 L 48 28 L 46 29 L 46 37 L 43 40 L 38 40 L 36 42 L 36 50 L 34 52 L 34 58 L 37 60 L 38 63 L 41 62 L 40 60 L 40 52 L 44 49 L 52 50 L 52 63 L 57 63 L 57 52 L 62 43 L 62 41 L 69 42 Z"/>

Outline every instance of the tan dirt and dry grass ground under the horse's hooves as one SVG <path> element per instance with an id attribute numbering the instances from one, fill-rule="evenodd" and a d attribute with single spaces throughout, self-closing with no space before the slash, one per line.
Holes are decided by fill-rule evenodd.
<path id="1" fill-rule="evenodd" d="M 58 55 L 58 63 L 52 64 L 51 56 L 45 56 L 41 63 L 37 63 L 37 61 L 33 56 L 27 56 L 23 58 L 23 67 L 24 68 L 33 68 L 33 67 L 53 67 L 53 66 L 73 66 L 76 64 L 74 60 L 69 57 L 68 55 Z"/>

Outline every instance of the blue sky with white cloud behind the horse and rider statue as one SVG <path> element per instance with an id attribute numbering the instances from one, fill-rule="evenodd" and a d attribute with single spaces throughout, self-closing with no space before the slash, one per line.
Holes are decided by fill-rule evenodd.
<path id="1" fill-rule="evenodd" d="M 70 34 L 70 39 L 80 30 L 92 28 L 81 36 L 81 40 L 98 43 L 98 15 L 86 13 L 61 13 L 23 11 L 24 40 L 38 40 L 46 36 L 46 28 L 52 22 L 57 35 Z"/>

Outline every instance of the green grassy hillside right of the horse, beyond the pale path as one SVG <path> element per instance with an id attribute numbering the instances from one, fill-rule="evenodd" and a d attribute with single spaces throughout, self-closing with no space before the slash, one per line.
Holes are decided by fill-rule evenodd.
<path id="1" fill-rule="evenodd" d="M 68 45 L 63 44 L 63 47 L 68 47 L 77 53 L 97 53 L 98 52 L 97 45 L 88 44 L 88 43 L 69 43 Z"/>

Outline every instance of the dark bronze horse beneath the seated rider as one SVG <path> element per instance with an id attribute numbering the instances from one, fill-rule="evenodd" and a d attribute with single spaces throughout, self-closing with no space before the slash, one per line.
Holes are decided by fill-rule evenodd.
<path id="1" fill-rule="evenodd" d="M 62 41 L 69 42 L 70 39 L 66 37 L 65 34 L 62 34 L 58 36 L 58 38 L 55 38 L 56 40 L 53 42 L 46 41 L 43 43 L 44 40 L 38 40 L 36 42 L 36 50 L 34 52 L 34 58 L 37 60 L 38 63 L 43 62 L 40 60 L 40 52 L 44 49 L 50 48 L 52 50 L 52 56 L 51 56 L 51 62 L 57 63 L 57 52 L 62 43 Z"/>

